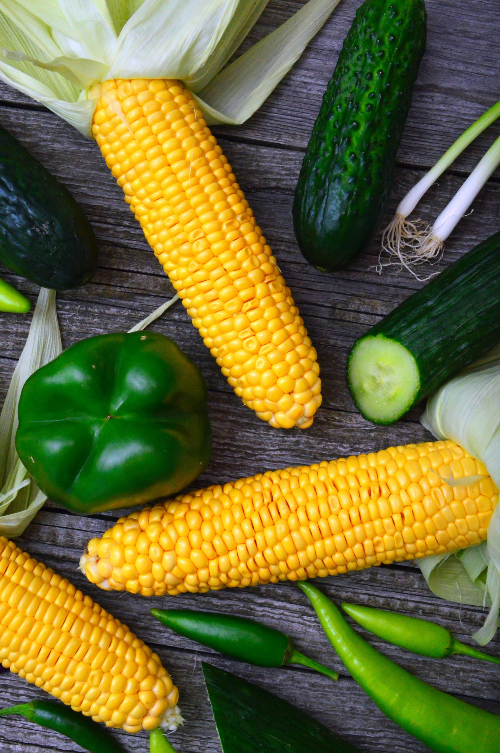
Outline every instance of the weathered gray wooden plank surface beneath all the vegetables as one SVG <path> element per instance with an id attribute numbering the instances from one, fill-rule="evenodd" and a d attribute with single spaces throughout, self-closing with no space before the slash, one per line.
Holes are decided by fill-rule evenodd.
<path id="1" fill-rule="evenodd" d="M 373 269 L 377 245 L 347 270 L 323 276 L 298 252 L 292 230 L 291 206 L 305 145 L 341 42 L 359 0 L 341 0 L 325 28 L 311 42 L 302 59 L 258 114 L 239 128 L 214 129 L 259 224 L 274 248 L 280 267 L 300 306 L 317 347 L 323 377 L 323 407 L 307 431 L 285 433 L 270 428 L 242 407 L 217 365 L 203 346 L 179 303 L 154 325 L 172 337 L 202 368 L 210 393 L 214 429 L 214 459 L 199 485 L 229 480 L 269 468 L 310 463 L 345 453 L 377 450 L 429 438 L 418 422 L 419 410 L 389 428 L 365 422 L 353 407 L 344 380 L 347 352 L 353 340 L 389 312 L 420 284 L 406 275 Z M 302 5 L 302 0 L 271 0 L 244 48 L 275 28 Z M 395 208 L 414 182 L 472 120 L 498 99 L 500 4 L 498 0 L 427 0 L 429 35 L 426 56 L 414 92 L 414 104 L 399 151 L 393 201 Z M 96 145 L 67 124 L 8 87 L 0 87 L 0 123 L 25 144 L 35 157 L 80 201 L 98 236 L 100 264 L 92 282 L 76 291 L 58 294 L 59 323 L 64 346 L 93 334 L 129 329 L 169 297 L 171 285 L 163 275 L 141 229 L 108 173 Z M 468 149 L 439 185 L 423 200 L 420 214 L 435 218 L 465 175 L 498 134 L 492 127 Z M 463 219 L 447 245 L 444 264 L 499 229 L 500 180 L 494 176 Z M 33 301 L 35 285 L 0 270 Z M 0 400 L 19 358 L 30 316 L 0 315 L 3 348 L 0 352 Z M 90 585 L 77 562 L 86 542 L 108 528 L 112 514 L 75 517 L 47 503 L 21 544 L 33 556 L 71 578 L 106 609 L 125 620 L 157 651 L 180 688 L 185 726 L 172 742 L 179 753 L 219 753 L 201 662 L 208 659 L 295 703 L 341 733 L 362 751 L 417 753 L 427 748 L 386 720 L 362 693 L 336 659 L 305 596 L 292 584 L 253 590 L 226 590 L 208 596 L 182 596 L 175 606 L 214 609 L 258 616 L 289 633 L 295 645 L 341 672 L 332 684 L 308 670 L 256 669 L 225 660 L 180 639 L 148 616 L 168 599 L 143 599 L 130 594 L 105 593 Z M 483 620 L 480 608 L 443 602 L 430 593 L 415 566 L 391 566 L 326 578 L 320 584 L 335 599 L 393 608 L 438 620 L 470 641 Z M 423 680 L 444 691 L 500 712 L 500 675 L 492 664 L 467 658 L 443 661 L 415 657 L 374 641 Z M 500 654 L 500 639 L 489 646 Z M 0 675 L 2 706 L 44 696 L 15 675 Z M 120 735 L 128 751 L 147 751 L 147 735 Z M 77 746 L 22 718 L 2 719 L 0 753 L 74 751 Z M 314 751 L 305 751 L 314 753 Z M 320 753 L 320 751 L 317 751 Z"/>

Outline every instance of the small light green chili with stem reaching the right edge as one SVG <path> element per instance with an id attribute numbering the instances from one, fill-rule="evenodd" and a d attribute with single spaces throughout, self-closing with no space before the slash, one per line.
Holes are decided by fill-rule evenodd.
<path id="1" fill-rule="evenodd" d="M 500 664 L 498 657 L 483 654 L 483 651 L 477 651 L 476 648 L 457 641 L 450 630 L 429 620 L 356 604 L 341 606 L 365 630 L 388 643 L 413 651 L 414 654 L 433 659 L 449 657 L 450 654 L 465 654 L 468 657 Z"/>

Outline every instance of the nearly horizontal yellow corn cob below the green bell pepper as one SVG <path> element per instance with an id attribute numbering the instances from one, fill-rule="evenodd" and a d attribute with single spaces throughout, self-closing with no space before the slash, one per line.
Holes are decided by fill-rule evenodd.
<path id="1" fill-rule="evenodd" d="M 338 575 L 479 544 L 497 501 L 454 442 L 389 447 L 144 508 L 92 538 L 80 567 L 144 596 Z"/>

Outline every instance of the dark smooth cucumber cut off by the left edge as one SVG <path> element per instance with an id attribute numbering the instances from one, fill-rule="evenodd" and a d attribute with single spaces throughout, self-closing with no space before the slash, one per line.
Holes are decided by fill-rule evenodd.
<path id="1" fill-rule="evenodd" d="M 83 209 L 2 127 L 0 261 L 56 290 L 83 285 L 97 264 L 97 242 Z"/>

